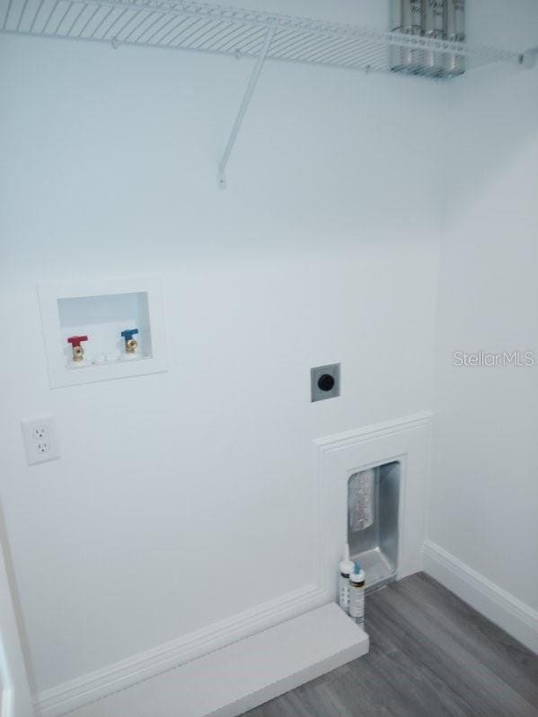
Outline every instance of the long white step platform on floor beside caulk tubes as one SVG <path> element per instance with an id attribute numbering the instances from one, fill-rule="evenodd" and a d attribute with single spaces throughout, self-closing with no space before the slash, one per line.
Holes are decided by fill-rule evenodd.
<path id="1" fill-rule="evenodd" d="M 237 717 L 362 657 L 368 647 L 368 635 L 331 603 L 69 714 Z"/>

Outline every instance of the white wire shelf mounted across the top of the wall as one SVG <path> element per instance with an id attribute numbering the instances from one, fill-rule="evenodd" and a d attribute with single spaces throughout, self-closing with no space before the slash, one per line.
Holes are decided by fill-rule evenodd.
<path id="1" fill-rule="evenodd" d="M 181 0 L 4 0 L 2 5 L 3 32 L 110 42 L 114 47 L 236 57 L 259 56 L 265 48 L 269 59 L 429 77 L 459 74 L 445 72 L 446 66 L 461 72 L 522 62 L 522 56 L 502 49 Z"/>

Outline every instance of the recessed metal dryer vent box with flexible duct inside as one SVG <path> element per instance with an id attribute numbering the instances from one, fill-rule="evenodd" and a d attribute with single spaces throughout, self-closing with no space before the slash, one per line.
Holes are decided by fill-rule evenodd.
<path id="1" fill-rule="evenodd" d="M 366 573 L 366 590 L 396 577 L 400 483 L 399 461 L 358 471 L 348 480 L 349 551 Z"/>

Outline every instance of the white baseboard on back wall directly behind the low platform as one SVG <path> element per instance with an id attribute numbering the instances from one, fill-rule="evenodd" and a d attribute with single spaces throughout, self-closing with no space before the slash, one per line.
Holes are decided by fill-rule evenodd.
<path id="1" fill-rule="evenodd" d="M 43 717 L 59 717 L 166 670 L 236 643 L 330 601 L 324 590 L 306 585 L 256 608 L 46 690 L 36 700 Z"/>

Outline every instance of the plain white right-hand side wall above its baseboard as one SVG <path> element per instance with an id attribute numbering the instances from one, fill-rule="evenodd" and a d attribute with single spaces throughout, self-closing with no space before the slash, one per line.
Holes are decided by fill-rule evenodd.
<path id="1" fill-rule="evenodd" d="M 488 40 L 502 44 L 506 27 L 512 47 L 536 44 L 538 5 L 487 9 Z M 470 74 L 448 101 L 428 535 L 536 609 L 538 70 Z M 454 352 L 481 351 L 536 364 L 454 365 Z"/>

